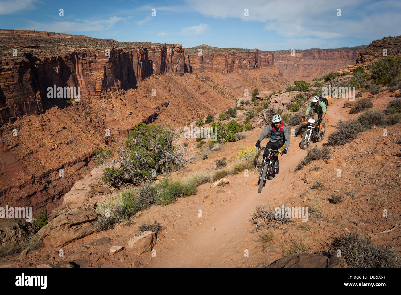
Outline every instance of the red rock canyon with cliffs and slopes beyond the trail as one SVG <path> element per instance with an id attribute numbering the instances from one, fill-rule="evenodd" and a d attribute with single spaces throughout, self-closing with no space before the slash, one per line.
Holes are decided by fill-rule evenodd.
<path id="1" fill-rule="evenodd" d="M 294 62 L 289 51 L 201 45 L 198 56 L 179 44 L 21 30 L 0 30 L 0 44 L 1 204 L 34 214 L 58 207 L 95 167 L 93 150 L 115 151 L 136 125 L 218 115 L 246 89 L 284 89 L 356 63 L 360 50 L 296 51 Z M 53 85 L 80 87 L 81 100 L 47 98 Z"/>

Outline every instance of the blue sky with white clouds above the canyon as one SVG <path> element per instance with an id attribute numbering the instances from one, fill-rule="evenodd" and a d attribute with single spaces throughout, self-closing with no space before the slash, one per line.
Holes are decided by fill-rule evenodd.
<path id="1" fill-rule="evenodd" d="M 368 45 L 401 35 L 400 15 L 400 0 L 0 0 L 0 28 L 261 50 Z"/>

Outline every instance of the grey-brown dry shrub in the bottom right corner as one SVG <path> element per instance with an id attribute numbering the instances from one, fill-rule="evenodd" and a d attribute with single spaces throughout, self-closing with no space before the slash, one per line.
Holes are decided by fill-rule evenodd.
<path id="1" fill-rule="evenodd" d="M 336 238 L 333 242 L 348 267 L 401 267 L 400 256 L 393 247 L 371 244 L 368 238 L 361 238 L 358 233 L 349 233 Z"/>

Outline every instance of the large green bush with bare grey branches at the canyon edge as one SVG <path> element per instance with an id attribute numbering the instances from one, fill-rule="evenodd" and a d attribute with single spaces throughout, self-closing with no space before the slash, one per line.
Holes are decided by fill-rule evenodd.
<path id="1" fill-rule="evenodd" d="M 182 170 L 188 160 L 179 148 L 172 144 L 177 137 L 172 126 L 141 124 L 127 135 L 125 147 L 120 146 L 118 158 L 113 159 L 111 150 L 95 150 L 95 161 L 106 164 L 103 181 L 120 186 L 122 183 L 136 185 L 153 179 L 152 171 L 166 173 L 174 169 Z M 110 159 L 111 163 L 110 163 Z M 115 165 L 119 168 L 115 168 Z"/>

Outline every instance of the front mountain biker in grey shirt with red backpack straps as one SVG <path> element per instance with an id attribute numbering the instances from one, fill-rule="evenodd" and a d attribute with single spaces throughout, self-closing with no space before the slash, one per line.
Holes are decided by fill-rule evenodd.
<path id="1" fill-rule="evenodd" d="M 280 115 L 274 115 L 271 119 L 271 125 L 269 125 L 259 136 L 255 146 L 259 149 L 260 142 L 269 137 L 269 142 L 266 144 L 266 149 L 278 150 L 286 142 L 286 147 L 284 148 L 283 154 L 288 152 L 288 146 L 290 146 L 290 134 L 288 133 L 288 128 L 284 122 L 281 120 Z M 269 151 L 265 150 L 263 157 L 266 157 Z M 274 168 L 278 168 L 278 154 L 274 154 Z"/>

